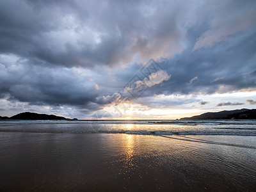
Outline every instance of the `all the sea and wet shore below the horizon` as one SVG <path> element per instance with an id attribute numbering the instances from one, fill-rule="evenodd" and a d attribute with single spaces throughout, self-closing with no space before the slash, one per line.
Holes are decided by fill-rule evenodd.
<path id="1" fill-rule="evenodd" d="M 1 120 L 0 191 L 255 191 L 255 120 Z"/>

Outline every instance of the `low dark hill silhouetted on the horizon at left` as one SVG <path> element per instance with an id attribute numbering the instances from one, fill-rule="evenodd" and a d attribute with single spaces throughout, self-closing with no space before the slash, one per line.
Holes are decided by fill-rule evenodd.
<path id="1" fill-rule="evenodd" d="M 9 119 L 19 119 L 19 120 L 70 120 L 70 118 L 65 118 L 63 116 L 56 115 L 46 115 L 38 113 L 19 113 L 17 115 L 11 116 Z"/>

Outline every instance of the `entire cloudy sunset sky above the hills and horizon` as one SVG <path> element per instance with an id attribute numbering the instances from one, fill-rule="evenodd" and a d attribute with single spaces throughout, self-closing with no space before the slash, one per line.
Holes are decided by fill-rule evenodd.
<path id="1" fill-rule="evenodd" d="M 256 108 L 256 1 L 0 1 L 0 115 Z"/>

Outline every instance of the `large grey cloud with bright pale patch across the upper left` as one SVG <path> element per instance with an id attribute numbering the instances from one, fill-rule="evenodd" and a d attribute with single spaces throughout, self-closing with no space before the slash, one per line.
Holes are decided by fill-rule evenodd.
<path id="1" fill-rule="evenodd" d="M 125 65 L 136 56 L 149 60 L 182 52 L 188 18 L 182 13 L 190 12 L 189 3 L 167 1 L 0 3 L 0 52 L 65 67 Z"/>

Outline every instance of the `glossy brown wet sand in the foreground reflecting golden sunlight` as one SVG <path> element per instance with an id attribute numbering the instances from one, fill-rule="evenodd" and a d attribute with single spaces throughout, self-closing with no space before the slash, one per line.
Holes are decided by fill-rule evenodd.
<path id="1" fill-rule="evenodd" d="M 255 143 L 255 136 L 0 132 L 0 191 L 254 191 Z"/>

